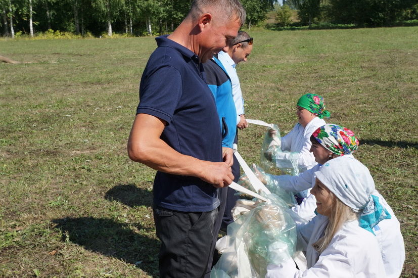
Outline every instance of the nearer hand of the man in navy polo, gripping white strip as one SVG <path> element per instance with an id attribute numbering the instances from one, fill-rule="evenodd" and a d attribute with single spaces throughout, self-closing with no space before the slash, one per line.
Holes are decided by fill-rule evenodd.
<path id="1" fill-rule="evenodd" d="M 234 175 L 225 162 L 203 162 L 203 172 L 199 176 L 202 180 L 211 183 L 216 188 L 229 186 L 234 180 Z"/>

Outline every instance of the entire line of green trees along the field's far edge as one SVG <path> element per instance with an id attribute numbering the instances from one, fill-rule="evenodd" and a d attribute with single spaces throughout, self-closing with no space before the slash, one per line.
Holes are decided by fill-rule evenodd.
<path id="1" fill-rule="evenodd" d="M 291 9 L 300 22 L 391 26 L 418 19 L 418 0 L 241 0 L 248 28 L 276 9 L 280 26 L 292 24 Z M 77 35 L 170 33 L 188 13 L 191 0 L 0 0 L 0 35 L 34 36 L 59 30 Z"/>

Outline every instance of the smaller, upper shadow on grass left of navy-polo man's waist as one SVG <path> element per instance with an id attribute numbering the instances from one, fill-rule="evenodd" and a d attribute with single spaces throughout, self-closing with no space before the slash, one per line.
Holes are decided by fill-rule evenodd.
<path id="1" fill-rule="evenodd" d="M 105 199 L 118 201 L 129 207 L 153 206 L 153 195 L 148 190 L 140 189 L 135 184 L 118 184 L 106 192 Z"/>

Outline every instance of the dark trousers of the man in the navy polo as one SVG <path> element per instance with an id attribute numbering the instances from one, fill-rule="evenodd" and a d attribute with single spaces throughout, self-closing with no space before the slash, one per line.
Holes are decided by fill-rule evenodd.
<path id="1" fill-rule="evenodd" d="M 163 277 L 204 277 L 212 264 L 215 221 L 219 208 L 209 212 L 179 212 L 154 208 L 157 237 L 161 240 L 159 267 Z"/>

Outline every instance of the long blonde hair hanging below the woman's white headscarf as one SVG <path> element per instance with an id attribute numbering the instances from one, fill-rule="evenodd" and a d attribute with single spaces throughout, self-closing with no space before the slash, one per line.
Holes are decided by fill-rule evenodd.
<path id="1" fill-rule="evenodd" d="M 345 222 L 358 218 L 357 213 L 341 202 L 334 193 L 331 192 L 330 198 L 332 205 L 327 228 L 325 229 L 323 237 L 312 244 L 313 248 L 318 251 L 319 254 L 328 247 L 334 235 Z"/>

